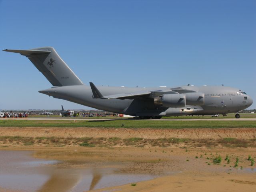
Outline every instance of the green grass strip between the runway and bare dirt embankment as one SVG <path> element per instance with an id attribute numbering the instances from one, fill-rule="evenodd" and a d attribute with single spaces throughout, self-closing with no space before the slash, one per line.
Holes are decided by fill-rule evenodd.
<path id="1" fill-rule="evenodd" d="M 161 120 L 0 120 L 0 127 L 97 127 L 97 128 L 256 128 L 256 121 L 161 121 Z"/>

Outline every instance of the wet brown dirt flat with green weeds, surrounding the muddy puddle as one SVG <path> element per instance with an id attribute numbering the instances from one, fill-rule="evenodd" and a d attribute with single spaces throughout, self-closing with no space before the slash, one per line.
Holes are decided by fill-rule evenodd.
<path id="1" fill-rule="evenodd" d="M 118 166 L 123 173 L 140 170 L 145 174 L 161 175 L 166 172 L 153 180 L 137 182 L 136 186 L 126 184 L 91 190 L 93 192 L 198 192 L 205 190 L 209 192 L 251 192 L 256 189 L 256 173 L 246 171 L 255 168 L 255 166 L 250 166 L 246 158 L 249 154 L 256 156 L 256 148 L 191 148 L 187 152 L 181 148 L 74 147 L 71 149 L 50 147 L 46 150 L 45 147 L 18 146 L 10 149 L 36 150 L 34 157 L 63 160 L 65 163 L 60 165 L 62 167 L 86 168 L 93 166 L 92 162 L 97 162 L 97 166 L 104 167 L 106 162 L 122 162 Z M 226 154 L 230 156 L 230 164 L 224 161 Z M 218 155 L 222 156 L 220 164 L 213 164 L 212 160 L 207 160 L 207 157 Z M 239 167 L 242 166 L 243 170 L 230 167 L 230 165 L 234 166 L 236 157 L 239 158 Z M 206 161 L 211 164 L 206 164 Z"/>

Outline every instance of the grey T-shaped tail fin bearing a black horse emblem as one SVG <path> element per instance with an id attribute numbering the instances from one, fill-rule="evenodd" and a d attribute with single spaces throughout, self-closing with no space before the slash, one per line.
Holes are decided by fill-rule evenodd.
<path id="1" fill-rule="evenodd" d="M 26 56 L 53 86 L 83 85 L 52 47 L 31 50 L 4 50 Z"/>

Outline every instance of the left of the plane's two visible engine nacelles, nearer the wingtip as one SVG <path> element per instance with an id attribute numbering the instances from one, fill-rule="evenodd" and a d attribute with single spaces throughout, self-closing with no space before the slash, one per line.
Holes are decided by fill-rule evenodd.
<path id="1" fill-rule="evenodd" d="M 186 96 L 185 94 L 166 94 L 154 98 L 154 104 L 163 107 L 185 107 Z"/>

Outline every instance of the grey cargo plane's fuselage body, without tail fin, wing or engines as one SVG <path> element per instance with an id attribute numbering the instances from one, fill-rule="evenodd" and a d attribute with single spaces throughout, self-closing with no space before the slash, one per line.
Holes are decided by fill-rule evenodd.
<path id="1" fill-rule="evenodd" d="M 179 115 L 206 115 L 236 113 L 252 104 L 250 96 L 237 88 L 225 86 L 181 86 L 186 90 L 204 93 L 204 104 L 200 106 L 186 105 L 182 108 L 168 108 L 157 106 L 152 99 L 100 99 L 93 98 L 90 86 L 60 86 L 40 93 L 64 99 L 92 108 L 107 110 L 115 113 L 128 114 L 132 116 L 179 116 Z M 137 91 L 171 90 L 167 87 L 156 88 L 126 88 L 99 86 L 98 90 L 103 95 L 121 94 Z"/>

